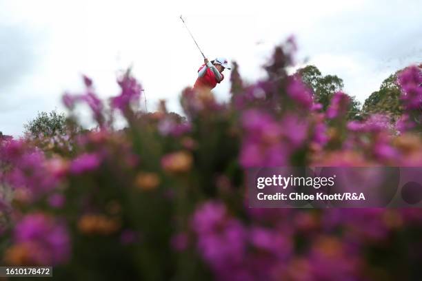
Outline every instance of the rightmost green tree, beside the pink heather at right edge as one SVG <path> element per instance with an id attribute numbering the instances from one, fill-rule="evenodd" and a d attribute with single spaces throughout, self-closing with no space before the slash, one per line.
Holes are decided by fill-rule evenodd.
<path id="1" fill-rule="evenodd" d="M 400 103 L 400 88 L 396 84 L 397 74 L 401 70 L 388 76 L 387 79 L 381 83 L 379 90 L 370 94 L 370 96 L 363 103 L 362 112 L 364 116 L 369 114 L 380 113 L 387 114 L 392 119 L 396 119 L 403 113 L 403 107 Z"/>

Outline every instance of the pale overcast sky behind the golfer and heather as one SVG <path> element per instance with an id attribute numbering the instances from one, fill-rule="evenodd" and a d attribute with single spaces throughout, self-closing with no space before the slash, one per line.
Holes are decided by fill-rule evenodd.
<path id="1" fill-rule="evenodd" d="M 37 112 L 63 110 L 61 94 L 81 91 L 81 74 L 99 96 L 118 94 L 117 71 L 130 64 L 148 110 L 165 98 L 180 112 L 179 94 L 203 61 L 181 14 L 205 55 L 236 60 L 248 81 L 294 34 L 298 66 L 340 76 L 363 102 L 392 72 L 422 61 L 422 1 L 343 2 L 0 0 L 0 131 L 18 136 Z M 221 101 L 229 87 L 225 79 L 215 88 Z"/>

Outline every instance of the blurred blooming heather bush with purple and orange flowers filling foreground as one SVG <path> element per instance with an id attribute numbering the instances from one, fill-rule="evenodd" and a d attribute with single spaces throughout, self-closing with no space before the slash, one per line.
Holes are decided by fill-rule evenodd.
<path id="1" fill-rule="evenodd" d="M 54 265 L 63 280 L 395 280 L 421 274 L 419 209 L 250 209 L 248 167 L 422 164 L 421 77 L 399 76 L 406 113 L 348 121 L 289 76 L 295 45 L 277 47 L 268 77 L 232 98 L 188 87 L 186 118 L 139 111 L 141 85 L 119 77 L 112 112 L 83 77 L 66 94 L 70 124 L 86 103 L 97 129 L 0 141 L 3 264 Z M 128 126 L 113 129 L 112 116 Z M 390 279 L 389 279 L 390 278 Z"/>

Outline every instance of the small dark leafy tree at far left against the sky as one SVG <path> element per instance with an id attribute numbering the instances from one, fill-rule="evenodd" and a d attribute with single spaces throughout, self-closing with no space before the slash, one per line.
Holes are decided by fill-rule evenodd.
<path id="1" fill-rule="evenodd" d="M 65 134 L 66 116 L 53 110 L 50 113 L 39 112 L 34 120 L 24 125 L 25 133 L 32 136 L 54 136 L 55 134 Z"/>

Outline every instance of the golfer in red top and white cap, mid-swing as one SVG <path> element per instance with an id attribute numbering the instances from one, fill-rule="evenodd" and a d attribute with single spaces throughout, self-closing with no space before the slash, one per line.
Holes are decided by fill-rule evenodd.
<path id="1" fill-rule="evenodd" d="M 217 58 L 214 61 L 203 60 L 203 65 L 199 67 L 198 79 L 194 84 L 194 89 L 208 88 L 209 90 L 214 89 L 217 83 L 220 83 L 224 79 L 223 71 L 225 68 L 230 70 L 228 61 L 225 58 Z"/>

